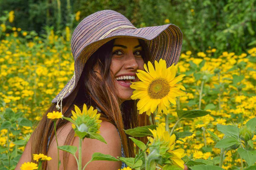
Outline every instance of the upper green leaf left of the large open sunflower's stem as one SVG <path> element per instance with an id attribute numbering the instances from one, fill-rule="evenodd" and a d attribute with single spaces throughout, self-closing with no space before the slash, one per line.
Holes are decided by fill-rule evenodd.
<path id="1" fill-rule="evenodd" d="M 143 137 L 143 136 L 152 136 L 152 133 L 150 132 L 150 130 L 148 129 L 156 129 L 156 125 L 148 125 L 148 126 L 141 126 L 141 127 L 135 127 L 133 129 L 127 129 L 127 130 L 124 130 L 124 132 L 127 134 L 127 135 L 131 135 L 131 136 L 134 136 L 134 137 Z"/>

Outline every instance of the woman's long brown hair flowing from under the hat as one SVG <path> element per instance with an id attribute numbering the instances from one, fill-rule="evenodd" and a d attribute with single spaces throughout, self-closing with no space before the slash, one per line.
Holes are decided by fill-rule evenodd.
<path id="1" fill-rule="evenodd" d="M 138 39 L 139 43 L 142 45 L 142 57 L 144 62 L 150 60 L 150 53 L 146 47 L 145 41 Z M 97 106 L 101 110 L 102 121 L 108 121 L 116 126 L 120 132 L 122 145 L 124 148 L 125 156 L 134 157 L 138 148 L 134 148 L 133 142 L 126 135 L 123 129 L 135 128 L 137 126 L 146 126 L 150 124 L 155 124 L 154 116 L 151 116 L 151 122 L 149 117 L 143 113 L 138 114 L 137 111 L 137 100 L 127 100 L 119 105 L 119 98 L 117 96 L 117 91 L 115 90 L 115 80 L 114 75 L 110 70 L 112 48 L 114 44 L 114 39 L 108 41 L 103 46 L 101 46 L 97 51 L 95 51 L 92 56 L 88 59 L 84 65 L 83 72 L 78 81 L 76 88 L 72 93 L 65 99 L 62 100 L 62 114 L 65 117 L 72 116 L 71 110 L 74 110 L 74 104 L 78 106 L 81 110 L 83 103 L 87 106 Z M 93 67 L 97 66 L 99 68 L 99 74 L 95 74 Z M 34 141 L 31 144 L 31 154 L 43 153 L 47 155 L 47 142 L 48 137 L 50 137 L 50 142 L 54 136 L 54 123 L 47 119 L 47 113 L 52 111 L 59 111 L 56 109 L 56 103 L 51 103 L 49 108 L 46 110 L 42 119 L 37 125 L 37 128 L 31 135 Z M 67 120 L 59 119 L 56 122 L 56 129 L 61 128 L 66 123 Z M 146 137 L 139 137 L 138 140 L 147 142 Z M 64 145 L 72 145 L 74 141 L 74 130 L 71 129 Z M 49 145 L 50 146 L 50 145 Z M 68 152 L 63 153 L 64 169 L 68 162 Z M 31 159 L 31 161 L 33 161 Z M 61 161 L 62 162 L 62 161 Z M 46 169 L 47 161 L 42 163 L 42 169 Z"/>

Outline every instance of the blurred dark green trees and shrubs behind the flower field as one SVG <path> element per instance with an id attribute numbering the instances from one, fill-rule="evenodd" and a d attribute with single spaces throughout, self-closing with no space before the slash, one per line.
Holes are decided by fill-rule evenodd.
<path id="1" fill-rule="evenodd" d="M 137 28 L 177 25 L 183 32 L 183 52 L 211 46 L 217 48 L 216 55 L 241 53 L 256 45 L 255 0 L 0 0 L 0 16 L 5 10 L 15 13 L 6 25 L 39 35 L 49 27 L 61 34 L 66 26 L 72 35 L 83 18 L 104 9 L 120 12 Z"/>

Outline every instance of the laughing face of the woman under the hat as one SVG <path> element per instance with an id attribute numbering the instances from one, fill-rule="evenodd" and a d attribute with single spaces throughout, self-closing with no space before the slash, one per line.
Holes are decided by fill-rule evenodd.
<path id="1" fill-rule="evenodd" d="M 142 46 L 137 38 L 115 38 L 110 69 L 114 74 L 121 102 L 131 100 L 134 89 L 130 88 L 130 81 L 139 81 L 135 73 L 137 70 L 144 70 L 141 54 Z"/>

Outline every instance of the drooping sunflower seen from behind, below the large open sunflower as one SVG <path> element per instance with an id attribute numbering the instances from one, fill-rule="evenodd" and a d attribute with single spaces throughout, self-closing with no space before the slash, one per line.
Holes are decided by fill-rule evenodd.
<path id="1" fill-rule="evenodd" d="M 160 165 L 163 164 L 175 164 L 184 168 L 184 161 L 181 159 L 186 154 L 184 149 L 174 149 L 176 136 L 173 134 L 170 136 L 169 132 L 165 130 L 165 126 L 160 124 L 156 130 L 151 130 L 153 134 L 152 137 L 147 137 L 150 140 L 149 147 L 147 152 L 149 153 L 158 153 L 160 156 L 156 159 L 156 162 Z M 161 159 L 160 159 L 161 157 Z"/>

